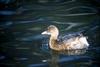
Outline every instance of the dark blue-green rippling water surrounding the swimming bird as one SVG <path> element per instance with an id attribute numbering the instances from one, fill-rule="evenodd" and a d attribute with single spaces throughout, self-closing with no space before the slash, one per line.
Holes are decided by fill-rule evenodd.
<path id="1" fill-rule="evenodd" d="M 88 1 L 22 1 L 16 10 L 0 11 L 0 65 L 2 67 L 99 67 L 99 15 Z M 2 13 L 3 12 L 3 13 Z M 41 35 L 56 25 L 60 36 L 83 32 L 89 49 L 53 51 L 48 36 Z"/>

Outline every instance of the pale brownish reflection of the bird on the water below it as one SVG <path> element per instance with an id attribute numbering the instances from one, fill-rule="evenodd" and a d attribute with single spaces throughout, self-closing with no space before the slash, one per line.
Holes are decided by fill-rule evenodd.
<path id="1" fill-rule="evenodd" d="M 67 56 L 75 56 L 75 55 L 82 55 L 86 52 L 86 49 L 81 50 L 66 50 L 66 51 L 54 51 L 51 50 L 51 58 L 49 59 L 48 63 L 50 67 L 59 67 L 59 63 L 61 62 L 67 62 L 70 59 L 75 60 L 74 58 L 68 58 Z M 66 58 L 60 59 L 60 55 L 66 55 Z"/>

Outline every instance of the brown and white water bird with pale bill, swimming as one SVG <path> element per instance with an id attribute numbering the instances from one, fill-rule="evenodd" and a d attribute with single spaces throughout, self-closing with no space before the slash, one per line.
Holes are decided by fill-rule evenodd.
<path id="1" fill-rule="evenodd" d="M 53 50 L 84 49 L 89 46 L 86 37 L 83 35 L 69 34 L 65 40 L 60 40 L 58 38 L 59 30 L 54 25 L 50 25 L 42 34 L 50 35 L 49 46 Z"/>

